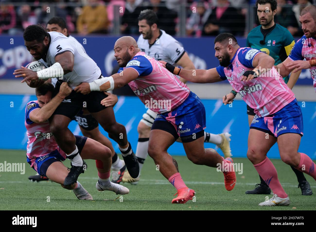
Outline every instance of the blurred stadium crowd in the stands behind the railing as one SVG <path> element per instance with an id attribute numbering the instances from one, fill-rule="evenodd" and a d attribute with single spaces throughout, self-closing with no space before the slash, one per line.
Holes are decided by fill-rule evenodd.
<path id="1" fill-rule="evenodd" d="M 45 25 L 53 16 L 62 17 L 70 33 L 86 35 L 113 32 L 114 6 L 118 5 L 121 34 L 138 34 L 137 16 L 143 9 L 153 9 L 160 19 L 161 29 L 170 35 L 179 32 L 181 0 L 0 0 L 0 34 L 17 35 L 32 24 Z M 293 36 L 301 35 L 300 10 L 316 0 L 277 0 L 276 23 L 286 27 Z M 4 3 L 4 4 L 3 4 Z M 216 36 L 229 32 L 246 36 L 246 15 L 254 0 L 187 0 L 187 36 Z M 253 14 L 256 17 L 256 13 Z M 257 17 L 253 27 L 258 26 Z"/>

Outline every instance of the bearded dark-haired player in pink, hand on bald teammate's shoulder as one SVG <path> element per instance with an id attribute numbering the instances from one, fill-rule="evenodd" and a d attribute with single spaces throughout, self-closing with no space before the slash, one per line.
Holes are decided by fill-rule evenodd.
<path id="1" fill-rule="evenodd" d="M 191 82 L 213 83 L 228 80 L 239 92 L 256 114 L 250 125 L 247 157 L 274 193 L 271 199 L 259 205 L 289 205 L 289 196 L 266 155 L 277 142 L 284 163 L 316 180 L 315 164 L 306 154 L 298 152 L 303 135 L 301 108 L 294 93 L 273 67 L 272 57 L 257 49 L 241 48 L 230 33 L 219 34 L 214 43 L 215 57 L 220 62 L 220 66 L 216 68 L 195 70 L 196 75 L 192 75 L 192 70 L 179 69 L 165 62 L 164 65 L 171 72 Z M 270 135 L 269 139 L 266 139 L 267 135 Z"/>

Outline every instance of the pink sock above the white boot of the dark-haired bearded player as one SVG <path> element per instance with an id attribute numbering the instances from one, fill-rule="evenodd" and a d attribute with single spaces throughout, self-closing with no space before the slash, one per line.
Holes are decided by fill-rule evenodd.
<path id="1" fill-rule="evenodd" d="M 285 193 L 280 181 L 277 178 L 276 168 L 268 157 L 259 164 L 253 165 L 259 175 L 264 179 L 265 183 L 271 188 L 273 194 L 281 198 L 287 198 L 288 194 Z"/>

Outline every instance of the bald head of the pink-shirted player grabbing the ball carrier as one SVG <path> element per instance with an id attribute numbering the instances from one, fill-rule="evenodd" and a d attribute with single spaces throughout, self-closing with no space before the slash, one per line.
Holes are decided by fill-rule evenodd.
<path id="1" fill-rule="evenodd" d="M 136 40 L 131 36 L 123 36 L 114 44 L 114 57 L 121 68 L 125 67 L 139 51 Z"/>

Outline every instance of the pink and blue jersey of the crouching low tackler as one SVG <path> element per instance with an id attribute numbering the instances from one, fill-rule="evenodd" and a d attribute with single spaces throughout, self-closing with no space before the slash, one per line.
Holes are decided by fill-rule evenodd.
<path id="1" fill-rule="evenodd" d="M 50 130 L 49 122 L 35 123 L 32 122 L 29 115 L 32 110 L 40 108 L 38 101 L 30 101 L 25 108 L 25 127 L 27 129 L 27 158 L 31 161 L 31 167 L 36 165 L 36 158 L 45 156 L 56 150 L 66 158 L 66 154 L 59 149 L 54 136 Z M 48 138 L 49 137 L 49 138 Z M 37 170 L 36 167 L 34 167 Z"/>

